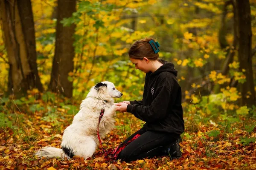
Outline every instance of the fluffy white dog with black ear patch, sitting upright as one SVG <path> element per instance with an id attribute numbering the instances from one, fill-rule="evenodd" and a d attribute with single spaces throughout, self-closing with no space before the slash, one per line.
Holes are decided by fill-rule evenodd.
<path id="1" fill-rule="evenodd" d="M 96 151 L 99 139 L 97 128 L 99 114 L 105 107 L 105 113 L 99 124 L 99 135 L 105 137 L 106 133 L 114 127 L 116 105 L 113 98 L 119 98 L 122 93 L 116 90 L 112 82 L 99 82 L 90 89 L 86 98 L 81 102 L 80 111 L 74 116 L 73 122 L 63 133 L 61 149 L 44 147 L 35 153 L 38 157 L 67 157 L 81 156 L 87 159 Z"/>

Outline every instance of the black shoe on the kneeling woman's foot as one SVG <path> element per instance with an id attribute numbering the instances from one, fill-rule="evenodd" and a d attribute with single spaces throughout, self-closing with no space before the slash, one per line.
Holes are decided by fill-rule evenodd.
<path id="1" fill-rule="evenodd" d="M 163 153 L 166 156 L 170 156 L 170 159 L 179 159 L 181 157 L 181 151 L 180 151 L 180 142 L 181 138 L 179 137 L 171 144 L 168 144 L 163 147 Z"/>

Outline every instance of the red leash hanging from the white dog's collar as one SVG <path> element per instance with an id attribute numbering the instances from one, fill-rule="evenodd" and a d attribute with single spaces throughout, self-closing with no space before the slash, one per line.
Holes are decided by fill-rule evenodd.
<path id="1" fill-rule="evenodd" d="M 105 112 L 105 103 L 104 103 L 104 108 L 100 111 L 100 114 L 99 114 L 99 123 L 104 115 L 104 112 Z M 119 153 L 129 144 L 131 143 L 132 141 L 134 141 L 135 139 L 137 139 L 140 134 L 137 134 L 135 135 L 131 140 L 129 140 L 127 143 L 121 143 L 118 147 L 116 147 L 114 150 L 112 148 L 109 148 L 108 150 L 105 150 L 102 146 L 102 142 L 100 140 L 100 137 L 99 137 L 99 123 L 98 123 L 98 139 L 99 139 L 99 143 L 102 147 L 102 150 L 103 150 L 103 153 L 104 153 L 104 156 L 105 156 L 105 159 L 107 160 L 116 160 L 117 159 L 117 156 L 119 155 Z"/>

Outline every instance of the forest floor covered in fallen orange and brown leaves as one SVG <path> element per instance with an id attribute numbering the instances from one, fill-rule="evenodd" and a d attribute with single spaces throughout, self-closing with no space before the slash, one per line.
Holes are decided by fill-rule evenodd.
<path id="1" fill-rule="evenodd" d="M 55 101 L 54 106 L 51 102 L 43 100 L 36 100 L 33 105 L 29 102 L 13 103 L 2 105 L 1 109 L 5 113 L 9 112 L 10 116 L 5 118 L 5 122 L 1 122 L 0 169 L 256 169 L 256 128 L 244 129 L 245 124 L 255 124 L 255 119 L 243 119 L 232 124 L 212 121 L 195 123 L 189 121 L 184 113 L 186 130 L 180 142 L 182 156 L 175 160 L 162 156 L 131 162 L 108 161 L 104 159 L 99 148 L 93 157 L 87 160 L 78 156 L 70 160 L 38 159 L 34 154 L 41 147 L 60 147 L 63 131 L 72 122 L 79 109 L 79 103 L 66 105 L 61 100 Z M 3 117 L 3 113 L 1 116 Z M 6 127 L 3 127 L 3 123 L 6 123 Z M 103 147 L 115 148 L 142 126 L 143 122 L 132 114 L 117 113 L 116 127 L 103 140 Z"/>

